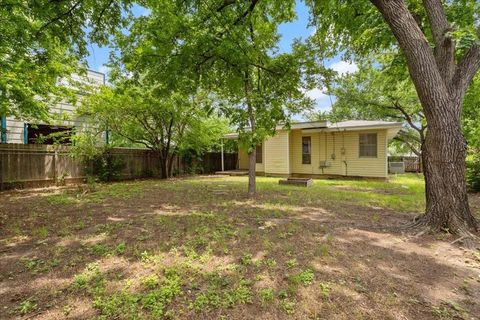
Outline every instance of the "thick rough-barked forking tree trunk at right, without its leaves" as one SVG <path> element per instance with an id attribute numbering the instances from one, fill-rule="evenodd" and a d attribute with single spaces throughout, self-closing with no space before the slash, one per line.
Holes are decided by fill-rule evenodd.
<path id="1" fill-rule="evenodd" d="M 371 0 L 382 13 L 405 54 L 408 70 L 427 119 L 423 147 L 426 212 L 419 225 L 455 234 L 477 231 L 465 182 L 466 141 L 460 125 L 465 92 L 480 67 L 474 45 L 458 63 L 450 24 L 439 0 L 423 0 L 435 49 L 404 0 Z"/>

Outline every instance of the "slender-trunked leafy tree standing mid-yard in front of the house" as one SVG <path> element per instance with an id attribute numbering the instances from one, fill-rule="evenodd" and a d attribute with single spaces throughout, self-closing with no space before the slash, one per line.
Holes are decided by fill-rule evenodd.
<path id="1" fill-rule="evenodd" d="M 144 6 L 150 14 L 116 37 L 117 62 L 124 72 L 141 68 L 142 77 L 161 77 L 168 90 L 200 87 L 221 101 L 248 150 L 253 195 L 255 147 L 308 105 L 300 46 L 294 54 L 277 48 L 278 26 L 294 19 L 294 2 L 165 0 Z"/>

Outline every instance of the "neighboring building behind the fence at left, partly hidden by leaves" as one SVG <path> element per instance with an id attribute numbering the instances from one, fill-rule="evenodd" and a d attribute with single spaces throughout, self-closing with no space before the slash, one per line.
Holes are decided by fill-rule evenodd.
<path id="1" fill-rule="evenodd" d="M 78 75 L 72 76 L 73 80 L 87 82 L 91 85 L 105 84 L 105 75 L 100 72 L 88 70 L 86 77 Z M 82 96 L 82 92 L 77 93 Z M 2 116 L 1 127 L 6 128 L 2 133 L 1 143 L 20 143 L 35 144 L 38 143 L 39 136 L 48 136 L 52 133 L 71 132 L 72 134 L 78 128 L 85 125 L 85 119 L 75 114 L 75 106 L 69 103 L 59 103 L 50 108 L 52 114 L 50 123 L 44 122 L 26 122 L 13 117 Z M 43 141 L 44 144 L 51 144 L 52 140 Z"/>

